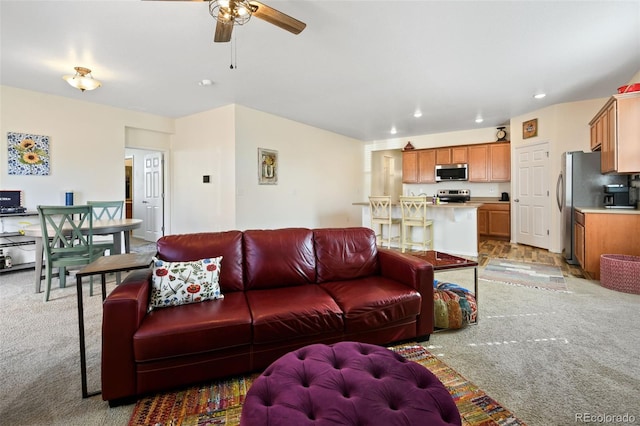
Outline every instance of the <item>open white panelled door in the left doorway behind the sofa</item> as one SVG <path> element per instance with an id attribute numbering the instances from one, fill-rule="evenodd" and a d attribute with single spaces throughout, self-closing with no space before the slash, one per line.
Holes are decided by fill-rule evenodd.
<path id="1" fill-rule="evenodd" d="M 157 241 L 164 234 L 164 176 L 162 153 L 144 156 L 144 239 Z"/>

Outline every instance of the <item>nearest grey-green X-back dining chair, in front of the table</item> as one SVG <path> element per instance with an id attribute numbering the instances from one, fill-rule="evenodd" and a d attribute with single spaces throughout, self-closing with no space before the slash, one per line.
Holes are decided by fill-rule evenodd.
<path id="1" fill-rule="evenodd" d="M 59 268 L 60 287 L 66 286 L 68 268 L 76 269 L 103 256 L 113 244 L 94 244 L 93 212 L 86 206 L 38 206 L 46 260 L 44 300 L 49 300 L 53 269 Z M 90 287 L 93 295 L 93 284 Z"/>

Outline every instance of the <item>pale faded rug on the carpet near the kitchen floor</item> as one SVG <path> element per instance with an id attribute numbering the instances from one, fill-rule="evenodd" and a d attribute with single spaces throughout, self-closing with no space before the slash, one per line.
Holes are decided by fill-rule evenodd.
<path id="1" fill-rule="evenodd" d="M 478 278 L 542 290 L 568 292 L 562 269 L 554 265 L 491 259 L 487 266 L 480 270 Z"/>

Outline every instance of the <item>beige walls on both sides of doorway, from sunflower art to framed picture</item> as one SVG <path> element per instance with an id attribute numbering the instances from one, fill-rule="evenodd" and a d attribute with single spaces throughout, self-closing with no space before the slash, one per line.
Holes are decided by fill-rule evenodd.
<path id="1" fill-rule="evenodd" d="M 235 105 L 174 120 L 0 90 L 0 188 L 23 190 L 29 210 L 68 190 L 76 204 L 124 198 L 127 148 L 165 153 L 166 233 L 360 223 L 360 141 Z M 9 176 L 7 132 L 49 136 L 51 174 Z M 258 147 L 279 151 L 278 185 L 258 185 Z"/>

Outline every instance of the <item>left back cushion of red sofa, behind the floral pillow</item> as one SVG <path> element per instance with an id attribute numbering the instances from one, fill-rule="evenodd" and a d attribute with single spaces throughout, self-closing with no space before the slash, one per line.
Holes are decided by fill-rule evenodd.
<path id="1" fill-rule="evenodd" d="M 167 235 L 157 242 L 158 258 L 170 262 L 184 262 L 207 257 L 224 258 L 220 274 L 223 294 L 242 291 L 242 232 L 203 232 L 198 234 Z"/>

